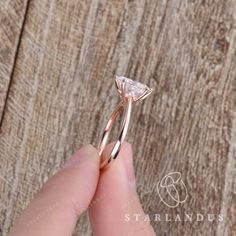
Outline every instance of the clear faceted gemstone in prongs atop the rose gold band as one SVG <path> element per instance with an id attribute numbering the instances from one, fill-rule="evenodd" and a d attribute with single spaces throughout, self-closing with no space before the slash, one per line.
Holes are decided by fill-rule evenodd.
<path id="1" fill-rule="evenodd" d="M 122 97 L 132 97 L 134 101 L 144 99 L 152 92 L 147 85 L 124 76 L 116 76 L 116 85 Z"/>

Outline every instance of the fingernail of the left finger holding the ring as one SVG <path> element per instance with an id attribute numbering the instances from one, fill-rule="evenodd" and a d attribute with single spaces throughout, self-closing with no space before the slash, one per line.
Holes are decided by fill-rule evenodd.
<path id="1" fill-rule="evenodd" d="M 96 151 L 96 149 L 91 144 L 80 148 L 66 161 L 65 167 L 77 165 L 78 163 L 86 161 L 90 156 L 93 156 L 94 151 Z"/>

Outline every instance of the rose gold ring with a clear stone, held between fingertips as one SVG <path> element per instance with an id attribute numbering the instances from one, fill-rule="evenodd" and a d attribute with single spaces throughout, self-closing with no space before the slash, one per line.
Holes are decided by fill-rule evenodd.
<path id="1" fill-rule="evenodd" d="M 147 85 L 133 81 L 124 76 L 116 76 L 115 85 L 121 101 L 111 114 L 98 145 L 99 156 L 101 157 L 100 169 L 107 167 L 113 160 L 116 159 L 120 152 L 121 145 L 128 131 L 133 102 L 146 98 L 153 91 L 153 89 L 149 88 Z M 117 141 L 115 142 L 110 154 L 108 156 L 104 156 L 102 154 L 107 144 L 109 134 L 115 124 L 115 121 L 121 114 L 123 114 L 123 121 Z"/>

